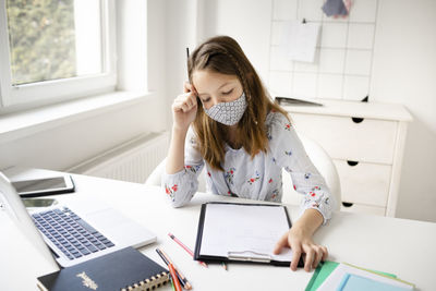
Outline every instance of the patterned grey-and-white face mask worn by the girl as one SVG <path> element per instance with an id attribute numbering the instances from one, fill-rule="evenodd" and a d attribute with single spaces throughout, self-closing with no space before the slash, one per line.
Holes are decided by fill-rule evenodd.
<path id="1" fill-rule="evenodd" d="M 234 101 L 217 104 L 209 109 L 204 108 L 209 118 L 226 125 L 237 124 L 244 114 L 245 109 L 246 100 L 244 93 Z"/>

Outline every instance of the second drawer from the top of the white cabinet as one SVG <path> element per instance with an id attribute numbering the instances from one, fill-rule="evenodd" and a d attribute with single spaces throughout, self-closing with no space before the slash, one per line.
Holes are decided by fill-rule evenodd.
<path id="1" fill-rule="evenodd" d="M 334 160 L 339 173 L 342 202 L 386 207 L 391 167 Z"/>

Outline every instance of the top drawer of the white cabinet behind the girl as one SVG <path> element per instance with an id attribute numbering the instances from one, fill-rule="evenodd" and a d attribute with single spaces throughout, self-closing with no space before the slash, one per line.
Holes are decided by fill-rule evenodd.
<path id="1" fill-rule="evenodd" d="M 331 158 L 391 165 L 396 121 L 290 113 L 295 129 L 318 142 Z"/>

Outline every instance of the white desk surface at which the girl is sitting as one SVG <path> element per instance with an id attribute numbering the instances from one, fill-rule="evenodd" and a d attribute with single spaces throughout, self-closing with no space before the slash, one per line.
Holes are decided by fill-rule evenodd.
<path id="1" fill-rule="evenodd" d="M 268 265 L 229 264 L 228 271 L 220 265 L 204 268 L 168 238 L 167 233 L 172 232 L 194 248 L 201 204 L 229 198 L 197 193 L 187 206 L 173 209 L 159 187 L 85 175 L 73 178 L 76 193 L 60 195 L 60 199 L 72 195 L 98 197 L 156 232 L 157 243 L 141 251 L 162 264 L 155 252 L 156 247 L 162 247 L 194 290 L 304 290 L 311 279 L 312 272 L 303 269 L 292 272 L 286 267 Z M 289 210 L 294 217 L 296 209 L 290 206 Z M 50 267 L 1 213 L 0 229 L 8 232 L 7 235 L 3 232 L 0 239 L 0 289 L 37 290 L 36 277 L 50 271 Z M 435 290 L 436 223 L 337 213 L 327 226 L 319 229 L 315 239 L 327 245 L 331 260 L 396 274 L 415 283 L 419 290 Z"/>

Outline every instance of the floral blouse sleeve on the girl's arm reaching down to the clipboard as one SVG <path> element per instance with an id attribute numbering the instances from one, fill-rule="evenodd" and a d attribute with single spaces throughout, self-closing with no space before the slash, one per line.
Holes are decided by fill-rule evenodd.
<path id="1" fill-rule="evenodd" d="M 268 129 L 268 138 L 274 159 L 290 173 L 294 190 L 304 195 L 301 214 L 308 208 L 316 209 L 323 215 L 325 225 L 331 218 L 336 202 L 324 178 L 308 158 L 292 124 L 283 114 L 275 114 Z"/>

